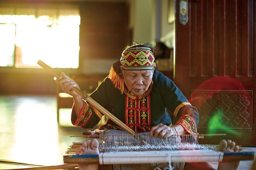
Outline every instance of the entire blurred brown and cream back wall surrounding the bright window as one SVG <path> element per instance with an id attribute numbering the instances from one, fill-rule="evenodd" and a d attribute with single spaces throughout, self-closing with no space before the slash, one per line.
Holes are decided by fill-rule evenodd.
<path id="1" fill-rule="evenodd" d="M 36 2 L 38 1 L 2 0 L 0 6 L 6 4 L 35 6 L 38 5 Z M 173 25 L 167 23 L 167 0 L 40 1 L 40 3 L 80 6 L 79 67 L 56 69 L 69 76 L 82 74 L 90 79 L 100 75 L 100 78 L 104 78 L 108 75 L 111 64 L 119 59 L 123 48 L 131 41 L 152 43 L 159 37 L 162 40 L 165 38 L 164 41 L 170 41 L 168 33 L 172 31 Z M 160 16 L 157 13 L 159 11 L 161 11 Z M 0 78 L 0 94 L 55 94 L 60 91 L 52 75 L 41 69 L 0 67 Z M 98 78 L 93 81 L 97 82 Z"/>

